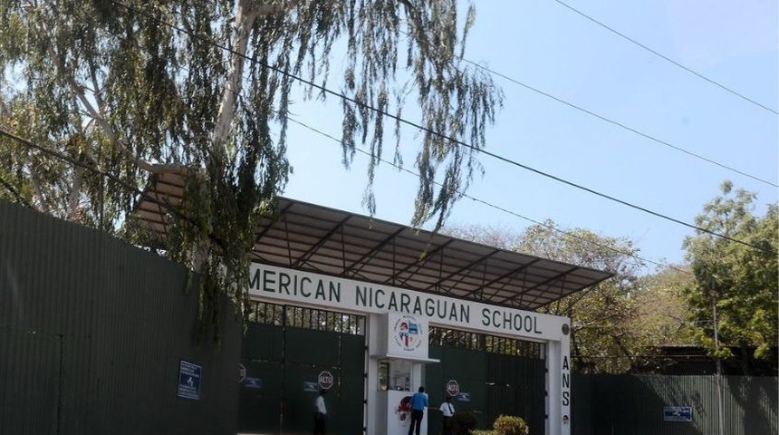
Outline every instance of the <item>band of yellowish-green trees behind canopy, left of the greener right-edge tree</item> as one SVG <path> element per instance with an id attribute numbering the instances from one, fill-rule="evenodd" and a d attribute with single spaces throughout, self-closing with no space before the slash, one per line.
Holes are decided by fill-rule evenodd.
<path id="1" fill-rule="evenodd" d="M 540 311 L 572 319 L 571 354 L 579 372 L 620 373 L 655 361 L 653 348 L 695 342 L 683 288 L 692 279 L 686 266 L 641 275 L 643 262 L 630 239 L 603 237 L 582 228 L 557 229 L 552 220 L 524 233 L 478 225 L 447 227 L 455 237 L 544 258 L 610 271 L 615 276 L 566 296 Z M 659 366 L 658 366 L 659 368 Z"/>

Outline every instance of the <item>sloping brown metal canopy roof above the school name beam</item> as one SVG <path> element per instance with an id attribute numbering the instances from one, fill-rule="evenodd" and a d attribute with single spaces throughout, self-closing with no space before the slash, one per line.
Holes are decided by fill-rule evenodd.
<path id="1" fill-rule="evenodd" d="M 139 218 L 165 237 L 166 213 L 154 198 L 178 208 L 183 191 L 180 176 L 160 176 L 141 198 Z M 524 310 L 613 275 L 290 198 L 277 198 L 274 216 L 257 227 L 253 255 L 269 265 Z"/>

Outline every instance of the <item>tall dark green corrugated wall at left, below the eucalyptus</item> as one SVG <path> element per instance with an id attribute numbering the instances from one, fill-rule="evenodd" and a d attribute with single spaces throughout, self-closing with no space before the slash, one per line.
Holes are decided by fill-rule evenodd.
<path id="1" fill-rule="evenodd" d="M 100 231 L 0 201 L 0 434 L 233 435 L 240 322 L 196 342 L 187 271 Z M 178 398 L 178 364 L 202 366 Z"/>

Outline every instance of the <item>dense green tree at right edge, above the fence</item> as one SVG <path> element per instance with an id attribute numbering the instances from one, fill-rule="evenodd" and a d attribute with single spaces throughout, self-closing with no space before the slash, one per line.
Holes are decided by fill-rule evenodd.
<path id="1" fill-rule="evenodd" d="M 721 190 L 696 218 L 705 231 L 684 242 L 695 276 L 685 289 L 691 320 L 712 354 L 727 358 L 732 356 L 727 346 L 754 347 L 753 356 L 765 358 L 779 339 L 779 208 L 769 204 L 765 216 L 755 216 L 754 193 L 734 190 L 729 181 Z M 719 345 L 714 340 L 715 305 Z M 748 360 L 743 367 L 748 372 Z"/>

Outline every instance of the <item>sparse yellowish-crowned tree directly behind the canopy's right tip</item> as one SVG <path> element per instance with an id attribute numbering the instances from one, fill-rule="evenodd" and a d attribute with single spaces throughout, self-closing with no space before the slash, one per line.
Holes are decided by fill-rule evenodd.
<path id="1" fill-rule="evenodd" d="M 515 250 L 534 256 L 605 270 L 614 276 L 544 306 L 544 313 L 571 318 L 572 368 L 579 372 L 627 372 L 644 350 L 647 336 L 631 327 L 638 311 L 643 262 L 627 238 L 604 237 L 582 228 L 564 233 L 548 220 L 528 227 Z"/>

